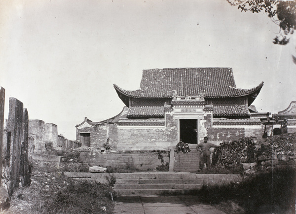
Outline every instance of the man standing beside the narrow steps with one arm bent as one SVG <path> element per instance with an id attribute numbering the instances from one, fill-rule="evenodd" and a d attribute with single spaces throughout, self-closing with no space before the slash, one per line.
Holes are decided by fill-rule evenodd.
<path id="1" fill-rule="evenodd" d="M 211 147 L 219 147 L 219 145 L 215 145 L 213 143 L 207 143 L 208 137 L 204 137 L 204 142 L 199 143 L 196 146 L 196 150 L 198 151 L 201 148 L 200 155 L 199 155 L 199 169 L 202 170 L 204 164 L 206 163 L 207 169 L 211 167 L 211 159 L 210 159 L 210 148 Z"/>

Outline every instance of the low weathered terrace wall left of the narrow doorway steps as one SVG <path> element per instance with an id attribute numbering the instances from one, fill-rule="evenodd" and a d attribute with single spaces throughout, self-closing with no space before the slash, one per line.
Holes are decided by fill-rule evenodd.
<path id="1" fill-rule="evenodd" d="M 161 166 L 161 159 L 158 158 L 159 154 L 163 156 L 164 164 L 169 163 L 169 152 L 111 152 L 108 154 L 81 152 L 80 159 L 83 163 L 88 163 L 91 166 L 148 170 Z"/>

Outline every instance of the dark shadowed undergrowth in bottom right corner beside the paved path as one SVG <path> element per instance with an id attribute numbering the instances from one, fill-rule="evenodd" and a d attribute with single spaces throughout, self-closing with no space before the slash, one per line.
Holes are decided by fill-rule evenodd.
<path id="1" fill-rule="evenodd" d="M 232 201 L 246 213 L 295 212 L 296 169 L 278 168 L 260 172 L 242 182 L 224 185 L 203 185 L 197 195 L 206 203 L 220 204 Z"/>

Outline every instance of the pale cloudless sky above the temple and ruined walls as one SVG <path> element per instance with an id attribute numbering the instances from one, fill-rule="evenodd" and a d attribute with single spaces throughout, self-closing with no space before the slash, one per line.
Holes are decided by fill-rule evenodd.
<path id="1" fill-rule="evenodd" d="M 296 100 L 296 38 L 275 45 L 279 27 L 226 0 L 1 0 L 0 86 L 29 119 L 75 125 L 124 107 L 113 84 L 139 89 L 143 69 L 230 67 L 239 88 L 264 86 L 259 111 Z"/>

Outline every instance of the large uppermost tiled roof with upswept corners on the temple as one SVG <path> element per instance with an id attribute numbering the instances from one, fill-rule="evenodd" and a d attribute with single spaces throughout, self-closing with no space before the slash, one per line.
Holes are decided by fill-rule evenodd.
<path id="1" fill-rule="evenodd" d="M 201 96 L 205 98 L 242 97 L 259 93 L 261 82 L 252 89 L 236 88 L 231 68 L 178 68 L 144 70 L 140 89 L 124 90 L 114 84 L 118 95 L 133 98 L 172 98 Z"/>

